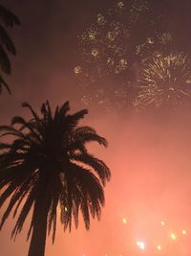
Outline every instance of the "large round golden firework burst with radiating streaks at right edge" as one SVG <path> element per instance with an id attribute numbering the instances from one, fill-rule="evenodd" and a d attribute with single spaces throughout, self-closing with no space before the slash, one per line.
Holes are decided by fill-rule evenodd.
<path id="1" fill-rule="evenodd" d="M 191 61 L 183 53 L 159 55 L 143 63 L 135 105 L 161 107 L 191 104 Z"/>

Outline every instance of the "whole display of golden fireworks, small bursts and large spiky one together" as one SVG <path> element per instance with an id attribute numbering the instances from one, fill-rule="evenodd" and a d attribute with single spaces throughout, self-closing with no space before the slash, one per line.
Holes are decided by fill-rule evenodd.
<path id="1" fill-rule="evenodd" d="M 161 29 L 162 13 L 156 20 L 150 16 L 144 32 L 138 25 L 151 11 L 148 0 L 118 1 L 107 12 L 98 13 L 95 22 L 78 36 L 80 65 L 74 68 L 74 74 L 83 104 L 100 105 L 106 110 L 115 106 L 121 111 L 134 105 L 138 109 L 183 105 L 190 98 L 188 58 L 178 53 L 162 55 L 169 52 L 173 41 L 171 33 Z M 135 26 L 140 26 L 138 35 Z M 108 79 L 115 81 L 111 87 L 106 85 Z M 131 92 L 123 86 L 129 83 L 133 84 Z"/>

